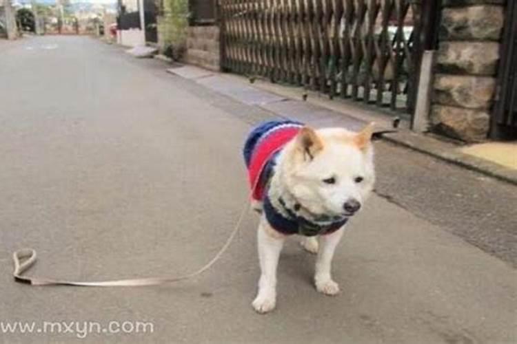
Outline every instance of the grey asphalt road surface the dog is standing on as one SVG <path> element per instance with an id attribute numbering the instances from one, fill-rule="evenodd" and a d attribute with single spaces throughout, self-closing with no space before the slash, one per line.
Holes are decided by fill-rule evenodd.
<path id="1" fill-rule="evenodd" d="M 89 38 L 0 43 L 0 341 L 517 341 L 515 187 L 385 143 L 378 194 L 336 253 L 338 297 L 316 293 L 314 257 L 293 240 L 277 309 L 255 314 L 254 214 L 193 281 L 14 283 L 10 255 L 25 246 L 39 252 L 33 275 L 99 280 L 190 272 L 224 243 L 247 197 L 243 138 L 272 115 L 163 67 Z M 34 333 L 1 333 L 17 321 Z M 66 325 L 50 333 L 45 321 Z M 93 333 L 111 321 L 119 332 Z M 152 333 L 123 333 L 138 321 Z"/>

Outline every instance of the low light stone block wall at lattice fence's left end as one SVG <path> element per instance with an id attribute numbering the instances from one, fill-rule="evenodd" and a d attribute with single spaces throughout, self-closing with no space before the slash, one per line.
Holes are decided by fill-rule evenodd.
<path id="1" fill-rule="evenodd" d="M 219 26 L 190 26 L 187 34 L 185 62 L 192 65 L 221 70 Z"/>

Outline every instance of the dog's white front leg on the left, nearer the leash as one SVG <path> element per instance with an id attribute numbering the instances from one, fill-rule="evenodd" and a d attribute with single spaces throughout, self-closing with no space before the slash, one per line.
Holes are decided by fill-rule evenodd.
<path id="1" fill-rule="evenodd" d="M 267 220 L 261 219 L 257 234 L 261 278 L 259 292 L 252 305 L 259 313 L 270 312 L 276 305 L 276 266 L 282 250 L 285 237 L 272 229 Z"/>

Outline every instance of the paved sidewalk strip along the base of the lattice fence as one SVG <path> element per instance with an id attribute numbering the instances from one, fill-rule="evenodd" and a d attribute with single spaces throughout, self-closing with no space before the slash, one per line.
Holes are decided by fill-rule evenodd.
<path id="1" fill-rule="evenodd" d="M 253 85 L 246 78 L 234 74 L 211 72 L 192 65 L 176 66 L 168 72 L 183 78 L 194 80 L 215 92 L 230 96 L 248 105 L 263 107 L 278 116 L 307 122 L 316 127 L 325 125 L 342 125 L 358 129 L 367 122 L 376 122 L 378 131 L 390 130 L 394 115 L 388 116 L 373 107 L 365 107 L 335 98 L 329 100 L 317 92 L 310 92 L 301 87 L 286 87 L 255 80 Z M 307 101 L 303 101 L 306 96 Z M 491 175 L 494 178 L 517 184 L 517 147 L 491 144 L 490 153 L 486 154 L 485 145 L 474 148 L 466 147 L 432 136 L 414 133 L 408 130 L 409 123 L 402 120 L 397 133 L 385 135 L 385 140 L 458 164 L 467 169 Z M 479 153 L 477 153 L 479 152 Z M 495 156 L 500 158 L 494 159 Z M 503 161 L 503 163 L 501 163 Z M 507 161 L 508 163 L 505 163 Z"/>

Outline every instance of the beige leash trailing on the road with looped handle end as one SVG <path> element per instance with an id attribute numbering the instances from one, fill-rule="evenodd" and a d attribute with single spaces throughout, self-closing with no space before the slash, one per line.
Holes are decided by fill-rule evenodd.
<path id="1" fill-rule="evenodd" d="M 254 189 L 254 188 L 253 188 Z M 211 268 L 216 261 L 221 258 L 221 255 L 227 250 L 227 248 L 232 244 L 234 237 L 239 232 L 241 228 L 241 224 L 243 222 L 244 216 L 249 211 L 250 204 L 246 203 L 243 211 L 241 211 L 241 215 L 237 220 L 232 233 L 230 233 L 230 237 L 226 239 L 225 244 L 217 252 L 217 254 L 210 260 L 205 266 L 196 270 L 195 272 L 191 272 L 190 274 L 179 276 L 179 277 L 171 277 L 171 278 L 142 278 L 142 279 L 116 279 L 113 281 L 96 281 L 96 282 L 81 282 L 81 281 L 67 281 L 64 279 L 45 279 L 45 278 L 37 278 L 37 277 L 26 277 L 23 276 L 24 272 L 32 268 L 36 263 L 37 255 L 36 251 L 32 248 L 23 248 L 21 250 L 17 250 L 12 255 L 12 260 L 14 261 L 14 272 L 12 275 L 14 276 L 14 281 L 19 283 L 30 284 L 31 286 L 76 286 L 76 287 L 143 287 L 143 286 L 158 286 L 161 284 L 174 283 L 178 281 L 183 281 L 184 279 L 191 279 L 193 277 L 201 275 L 203 272 Z"/>

